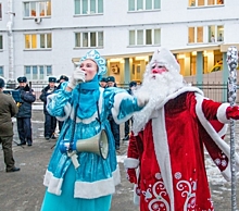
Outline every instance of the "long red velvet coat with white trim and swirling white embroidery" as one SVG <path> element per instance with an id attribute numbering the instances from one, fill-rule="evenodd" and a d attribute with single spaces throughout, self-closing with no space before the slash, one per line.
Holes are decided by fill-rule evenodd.
<path id="1" fill-rule="evenodd" d="M 131 136 L 125 167 L 139 166 L 141 211 L 213 210 L 203 147 L 229 181 L 229 146 L 221 138 L 228 105 L 185 87 L 159 104 L 144 129 Z"/>

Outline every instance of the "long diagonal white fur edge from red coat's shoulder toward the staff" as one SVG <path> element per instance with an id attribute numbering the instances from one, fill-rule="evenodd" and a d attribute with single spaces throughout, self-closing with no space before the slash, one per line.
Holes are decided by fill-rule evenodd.
<path id="1" fill-rule="evenodd" d="M 215 144 L 219 147 L 219 149 L 227 156 L 229 159 L 227 167 L 222 172 L 222 175 L 226 181 L 230 181 L 231 178 L 231 172 L 229 171 L 229 165 L 230 165 L 230 148 L 229 146 L 221 138 L 218 133 L 213 128 L 213 126 L 210 124 L 210 122 L 205 119 L 204 113 L 202 112 L 202 101 L 203 97 L 196 94 L 196 113 L 199 117 L 199 121 L 203 125 L 204 129 L 206 133 L 211 136 L 211 138 L 215 141 Z M 235 154 L 236 159 L 236 169 L 239 170 L 239 156 L 236 153 Z"/>

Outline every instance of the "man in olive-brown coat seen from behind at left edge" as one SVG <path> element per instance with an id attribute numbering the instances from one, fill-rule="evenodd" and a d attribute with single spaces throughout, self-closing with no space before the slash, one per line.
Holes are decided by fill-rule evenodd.
<path id="1" fill-rule="evenodd" d="M 5 172 L 17 172 L 20 167 L 15 166 L 12 152 L 13 123 L 11 117 L 17 113 L 18 108 L 10 95 L 2 92 L 4 86 L 4 80 L 0 78 L 0 144 L 2 144 Z"/>

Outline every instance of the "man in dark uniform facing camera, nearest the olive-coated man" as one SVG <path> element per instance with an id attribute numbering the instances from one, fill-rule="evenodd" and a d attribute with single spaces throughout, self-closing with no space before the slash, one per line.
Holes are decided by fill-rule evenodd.
<path id="1" fill-rule="evenodd" d="M 18 77 L 20 83 L 16 90 L 21 92 L 21 102 L 18 103 L 18 113 L 16 114 L 17 131 L 20 136 L 20 144 L 22 145 L 33 145 L 32 136 L 32 104 L 36 100 L 36 95 L 34 90 L 28 86 L 25 76 Z"/>

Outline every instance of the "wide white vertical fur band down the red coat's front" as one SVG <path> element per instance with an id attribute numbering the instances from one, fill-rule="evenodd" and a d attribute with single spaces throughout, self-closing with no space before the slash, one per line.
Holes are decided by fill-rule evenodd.
<path id="1" fill-rule="evenodd" d="M 158 110 L 158 113 L 159 116 L 156 119 L 152 119 L 153 144 L 156 161 L 160 165 L 161 175 L 171 200 L 171 211 L 174 211 L 174 188 L 164 108 Z"/>

